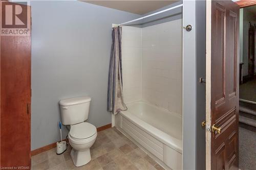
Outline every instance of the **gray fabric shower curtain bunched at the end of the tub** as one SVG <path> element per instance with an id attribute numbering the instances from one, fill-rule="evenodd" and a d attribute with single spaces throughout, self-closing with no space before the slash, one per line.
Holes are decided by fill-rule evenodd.
<path id="1" fill-rule="evenodd" d="M 113 114 L 127 110 L 123 102 L 121 39 L 122 28 L 113 28 L 108 82 L 108 111 Z"/>

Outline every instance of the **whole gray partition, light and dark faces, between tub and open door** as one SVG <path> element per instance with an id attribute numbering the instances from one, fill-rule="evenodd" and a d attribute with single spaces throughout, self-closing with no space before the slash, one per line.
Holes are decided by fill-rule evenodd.
<path id="1" fill-rule="evenodd" d="M 183 169 L 205 169 L 205 1 L 183 1 Z"/>

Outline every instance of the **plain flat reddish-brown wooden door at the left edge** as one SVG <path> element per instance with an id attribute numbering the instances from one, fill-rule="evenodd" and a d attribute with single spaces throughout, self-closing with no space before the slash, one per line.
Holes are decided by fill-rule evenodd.
<path id="1" fill-rule="evenodd" d="M 30 7 L 20 6 L 28 10 L 28 16 L 24 14 L 21 17 L 27 17 L 26 24 L 30 28 Z M 1 9 L 10 10 L 4 7 Z M 30 29 L 25 30 L 28 31 L 27 35 L 2 34 L 0 39 L 2 168 L 31 166 L 31 35 Z"/>

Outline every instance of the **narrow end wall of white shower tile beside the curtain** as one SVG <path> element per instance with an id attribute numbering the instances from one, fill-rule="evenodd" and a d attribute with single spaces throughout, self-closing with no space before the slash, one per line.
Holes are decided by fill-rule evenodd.
<path id="1" fill-rule="evenodd" d="M 142 98 L 142 29 L 122 28 L 122 66 L 124 102 Z"/>

